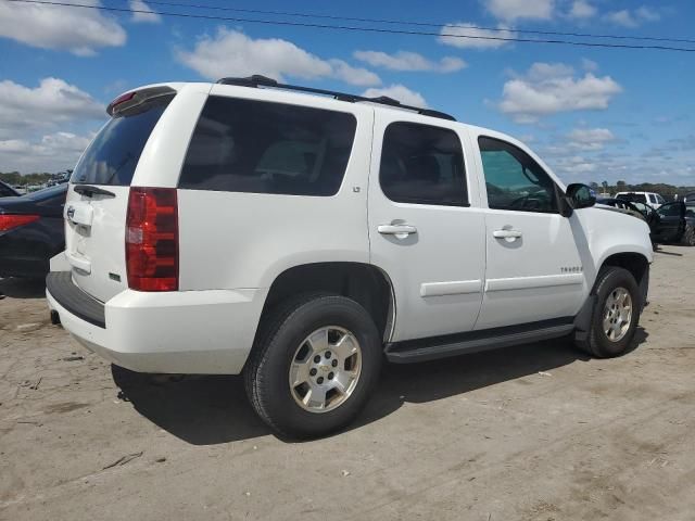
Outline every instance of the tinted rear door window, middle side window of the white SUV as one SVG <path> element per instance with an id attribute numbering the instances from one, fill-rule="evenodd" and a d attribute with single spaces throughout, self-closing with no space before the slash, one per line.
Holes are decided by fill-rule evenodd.
<path id="1" fill-rule="evenodd" d="M 391 201 L 413 204 L 468 204 L 464 153 L 453 130 L 392 123 L 383 135 L 381 190 Z"/>

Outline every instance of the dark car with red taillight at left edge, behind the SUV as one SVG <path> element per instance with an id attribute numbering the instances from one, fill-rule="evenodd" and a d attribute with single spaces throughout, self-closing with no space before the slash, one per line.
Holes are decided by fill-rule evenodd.
<path id="1" fill-rule="evenodd" d="M 67 185 L 0 199 L 0 278 L 41 278 L 65 249 Z"/>

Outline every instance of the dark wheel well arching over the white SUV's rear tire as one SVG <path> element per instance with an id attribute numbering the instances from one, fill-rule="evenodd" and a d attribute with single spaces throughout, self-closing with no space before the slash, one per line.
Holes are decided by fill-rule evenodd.
<path id="1" fill-rule="evenodd" d="M 327 291 L 352 298 L 371 316 L 384 340 L 389 334 L 393 292 L 379 268 L 361 263 L 316 263 L 290 268 L 273 281 L 263 316 L 288 296 L 307 291 Z"/>

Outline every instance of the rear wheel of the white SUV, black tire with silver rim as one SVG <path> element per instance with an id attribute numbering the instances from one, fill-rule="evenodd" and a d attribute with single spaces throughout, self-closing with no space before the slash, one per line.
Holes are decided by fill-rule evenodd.
<path id="1" fill-rule="evenodd" d="M 328 348 L 319 352 L 319 346 L 325 346 L 324 330 L 328 330 L 325 336 Z M 319 340 L 313 341 L 309 335 Z M 337 339 L 343 338 L 346 340 L 342 345 L 352 346 L 350 351 L 356 342 L 358 357 L 345 358 L 331 352 L 339 350 Z M 348 425 L 359 414 L 378 381 L 381 351 L 377 327 L 355 301 L 325 293 L 300 295 L 283 302 L 261 321 L 243 370 L 247 394 L 261 419 L 280 435 L 323 436 Z M 316 364 L 317 357 L 320 365 Z M 298 361 L 304 358 L 306 363 Z M 337 367 L 336 373 L 330 364 L 336 364 L 332 366 Z M 302 377 L 292 377 L 290 370 L 295 367 L 305 369 Z M 311 370 L 314 374 L 309 377 Z M 321 385 L 317 383 L 318 377 L 323 379 Z M 290 378 L 306 380 L 293 387 Z M 352 379 L 341 387 L 342 392 L 337 389 L 339 379 L 343 382 Z M 327 387 L 331 389 L 326 392 L 321 407 L 320 397 Z M 313 402 L 313 396 L 307 398 L 307 394 L 317 396 L 317 401 Z"/>

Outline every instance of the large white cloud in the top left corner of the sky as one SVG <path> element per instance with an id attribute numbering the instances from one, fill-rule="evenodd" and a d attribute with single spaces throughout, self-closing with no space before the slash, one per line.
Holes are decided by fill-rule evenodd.
<path id="1" fill-rule="evenodd" d="M 83 3 L 99 5 L 98 0 Z M 80 56 L 126 42 L 123 27 L 96 9 L 16 2 L 0 2 L 0 37 L 41 49 L 67 50 Z"/>

